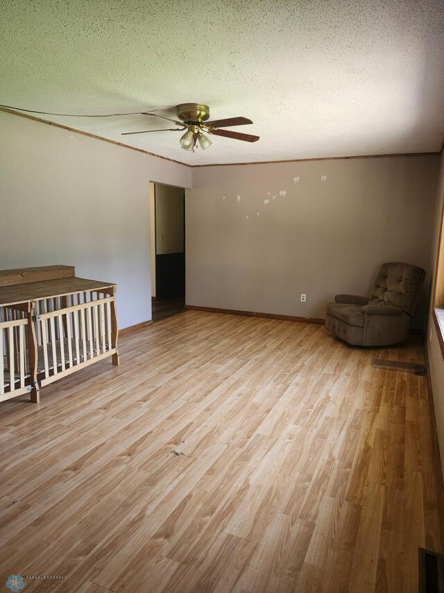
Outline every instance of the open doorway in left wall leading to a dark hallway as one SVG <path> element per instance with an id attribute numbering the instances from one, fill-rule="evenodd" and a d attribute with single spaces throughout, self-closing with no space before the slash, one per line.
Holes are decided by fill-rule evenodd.
<path id="1" fill-rule="evenodd" d="M 153 321 L 185 310 L 185 190 L 150 183 Z"/>

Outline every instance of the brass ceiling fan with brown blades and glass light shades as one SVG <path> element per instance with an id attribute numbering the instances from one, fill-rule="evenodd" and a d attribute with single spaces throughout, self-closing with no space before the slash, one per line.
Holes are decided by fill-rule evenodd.
<path id="1" fill-rule="evenodd" d="M 180 138 L 180 146 L 182 149 L 193 151 L 200 145 L 200 148 L 205 150 L 211 146 L 212 141 L 204 134 L 213 136 L 224 136 L 226 138 L 234 138 L 234 140 L 244 140 L 244 142 L 257 142 L 259 136 L 253 136 L 250 134 L 243 134 L 239 132 L 232 132 L 231 130 L 220 130 L 219 128 L 227 128 L 230 126 L 244 126 L 246 124 L 253 124 L 251 119 L 246 117 L 229 117 L 228 119 L 214 119 L 212 122 L 207 122 L 210 117 L 210 108 L 207 105 L 201 103 L 181 103 L 176 107 L 177 117 L 181 121 L 178 122 L 176 119 L 170 119 L 169 117 L 163 117 L 152 112 L 144 112 L 141 115 L 151 115 L 151 117 L 158 117 L 159 119 L 165 119 L 167 122 L 173 122 L 178 128 L 163 128 L 162 130 L 145 130 L 141 132 L 124 132 L 123 136 L 129 136 L 132 134 L 146 134 L 150 132 L 182 132 L 186 130 L 185 134 Z"/>

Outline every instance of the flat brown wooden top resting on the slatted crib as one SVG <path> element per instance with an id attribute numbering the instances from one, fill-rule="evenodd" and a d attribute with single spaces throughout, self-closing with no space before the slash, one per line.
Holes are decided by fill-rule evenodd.
<path id="1" fill-rule="evenodd" d="M 0 287 L 0 306 L 8 306 L 14 303 L 26 303 L 37 299 L 50 299 L 51 297 L 63 297 L 66 294 L 86 292 L 88 290 L 101 291 L 115 286 L 112 282 L 100 282 L 87 280 L 86 278 L 57 278 L 42 282 L 30 282 L 27 284 L 14 284 Z M 104 291 L 107 292 L 107 291 Z"/>

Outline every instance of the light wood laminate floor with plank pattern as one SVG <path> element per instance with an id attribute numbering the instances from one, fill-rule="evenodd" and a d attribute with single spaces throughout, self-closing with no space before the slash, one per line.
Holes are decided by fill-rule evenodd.
<path id="1" fill-rule="evenodd" d="M 187 311 L 119 350 L 0 404 L 0 587 L 416 593 L 442 551 L 427 379 L 372 360 L 424 363 L 418 338 Z"/>

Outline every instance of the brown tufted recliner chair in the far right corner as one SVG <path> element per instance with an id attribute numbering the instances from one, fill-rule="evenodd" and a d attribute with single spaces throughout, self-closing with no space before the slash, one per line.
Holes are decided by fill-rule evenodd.
<path id="1" fill-rule="evenodd" d="M 425 271 L 388 262 L 379 268 L 368 297 L 336 294 L 327 305 L 325 327 L 354 346 L 388 346 L 407 337 Z"/>

